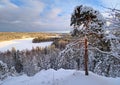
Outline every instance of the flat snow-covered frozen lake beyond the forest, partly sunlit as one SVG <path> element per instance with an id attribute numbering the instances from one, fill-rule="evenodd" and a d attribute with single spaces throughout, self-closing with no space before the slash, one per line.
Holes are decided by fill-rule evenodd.
<path id="1" fill-rule="evenodd" d="M 32 47 L 46 47 L 52 44 L 52 41 L 50 42 L 42 42 L 42 43 L 32 43 L 33 38 L 26 38 L 26 39 L 19 39 L 19 40 L 11 40 L 11 41 L 4 41 L 0 42 L 0 51 L 4 52 L 8 49 L 11 50 L 12 47 L 15 47 L 18 50 L 24 50 L 24 49 L 32 49 Z"/>

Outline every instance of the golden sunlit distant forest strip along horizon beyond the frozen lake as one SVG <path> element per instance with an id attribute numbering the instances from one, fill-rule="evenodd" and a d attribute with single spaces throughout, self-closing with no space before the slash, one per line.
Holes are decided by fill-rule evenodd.
<path id="1" fill-rule="evenodd" d="M 34 37 L 47 37 L 57 36 L 58 33 L 42 33 L 42 32 L 0 32 L 0 41 L 8 41 L 13 39 L 34 38 Z"/>

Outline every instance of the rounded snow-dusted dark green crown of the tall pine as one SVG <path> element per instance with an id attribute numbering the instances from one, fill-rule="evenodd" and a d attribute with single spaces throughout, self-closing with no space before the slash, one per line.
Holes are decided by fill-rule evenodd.
<path id="1" fill-rule="evenodd" d="M 86 30 L 85 29 L 86 27 L 83 27 L 84 29 L 82 29 L 81 31 L 83 31 L 83 33 L 86 32 L 102 33 L 106 27 L 105 24 L 106 20 L 99 11 L 94 10 L 89 6 L 80 5 L 75 7 L 71 17 L 71 26 L 73 26 L 73 28 L 81 27 L 81 25 L 84 25 L 85 22 L 87 23 L 86 17 L 88 17 L 88 15 L 90 18 L 90 22 L 87 24 L 88 28 Z"/>

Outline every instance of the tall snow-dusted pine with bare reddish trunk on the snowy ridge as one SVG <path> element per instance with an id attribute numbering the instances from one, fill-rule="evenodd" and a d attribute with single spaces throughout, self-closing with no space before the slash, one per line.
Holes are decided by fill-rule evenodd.
<path id="1" fill-rule="evenodd" d="M 87 6 L 77 6 L 71 16 L 71 26 L 76 28 L 81 28 L 84 33 L 84 64 L 85 64 L 85 75 L 88 75 L 88 36 L 95 35 L 96 37 L 101 37 L 104 32 L 104 18 L 99 11 L 94 10 Z"/>

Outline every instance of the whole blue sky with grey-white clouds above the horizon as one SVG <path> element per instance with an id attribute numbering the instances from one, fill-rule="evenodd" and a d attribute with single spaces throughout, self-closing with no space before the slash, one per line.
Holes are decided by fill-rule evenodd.
<path id="1" fill-rule="evenodd" d="M 0 0 L 0 32 L 68 31 L 81 4 L 100 12 L 102 6 L 120 9 L 120 0 Z"/>

